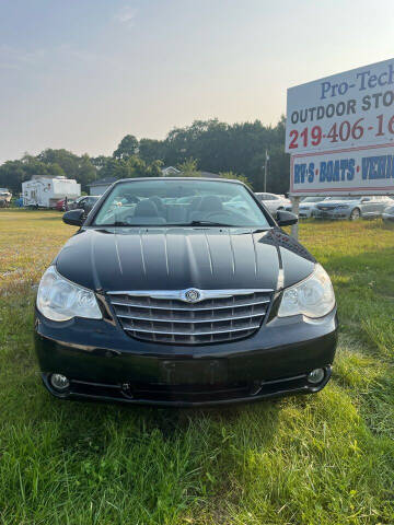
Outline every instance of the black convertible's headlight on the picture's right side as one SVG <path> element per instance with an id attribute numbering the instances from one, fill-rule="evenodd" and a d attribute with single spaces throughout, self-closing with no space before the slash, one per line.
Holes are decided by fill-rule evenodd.
<path id="1" fill-rule="evenodd" d="M 335 295 L 328 273 L 321 265 L 316 265 L 310 277 L 283 291 L 278 316 L 302 314 L 306 317 L 323 317 L 334 305 Z"/>

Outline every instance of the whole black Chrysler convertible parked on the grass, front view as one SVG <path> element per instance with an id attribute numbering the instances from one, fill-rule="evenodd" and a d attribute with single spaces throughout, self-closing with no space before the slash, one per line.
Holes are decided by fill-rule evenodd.
<path id="1" fill-rule="evenodd" d="M 35 347 L 60 398 L 171 406 L 314 393 L 337 341 L 329 277 L 236 180 L 118 180 L 44 273 Z M 83 222 L 84 221 L 84 222 Z"/>

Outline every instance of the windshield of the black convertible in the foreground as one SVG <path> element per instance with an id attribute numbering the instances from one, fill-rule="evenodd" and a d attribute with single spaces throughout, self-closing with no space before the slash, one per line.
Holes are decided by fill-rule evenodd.
<path id="1" fill-rule="evenodd" d="M 117 184 L 97 211 L 93 225 L 270 228 L 244 186 L 204 179 L 144 179 Z"/>

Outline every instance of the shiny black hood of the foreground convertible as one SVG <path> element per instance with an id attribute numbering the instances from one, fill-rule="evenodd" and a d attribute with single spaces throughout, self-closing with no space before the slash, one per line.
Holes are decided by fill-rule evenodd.
<path id="1" fill-rule="evenodd" d="M 314 258 L 279 229 L 88 229 L 55 259 L 67 279 L 92 290 L 201 290 L 289 287 Z"/>

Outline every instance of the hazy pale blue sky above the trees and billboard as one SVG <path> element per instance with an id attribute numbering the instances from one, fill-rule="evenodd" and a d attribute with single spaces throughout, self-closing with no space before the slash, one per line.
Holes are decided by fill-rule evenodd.
<path id="1" fill-rule="evenodd" d="M 0 163 L 275 125 L 289 86 L 393 58 L 393 0 L 0 0 Z"/>

